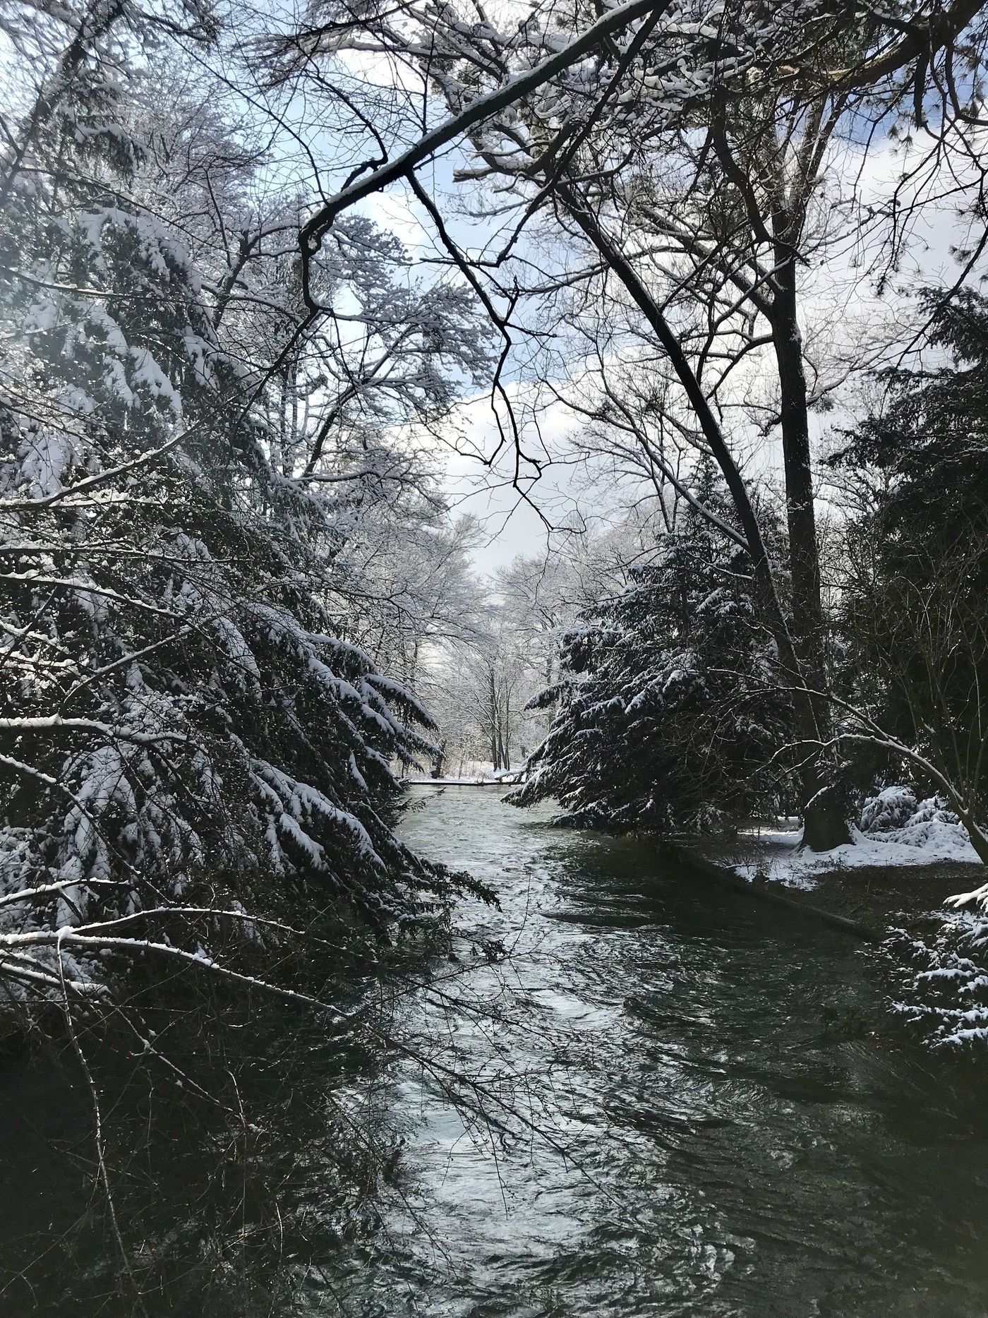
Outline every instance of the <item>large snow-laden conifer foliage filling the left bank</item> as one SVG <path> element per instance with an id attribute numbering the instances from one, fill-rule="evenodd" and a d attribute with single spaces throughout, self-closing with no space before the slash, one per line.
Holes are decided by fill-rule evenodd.
<path id="1" fill-rule="evenodd" d="M 227 902 L 302 884 L 415 917 L 447 880 L 391 832 L 391 766 L 433 754 L 431 720 L 346 639 L 368 590 L 350 550 L 394 481 L 382 423 L 444 405 L 449 362 L 478 360 L 462 299 L 416 298 L 406 269 L 389 293 L 400 250 L 354 217 L 317 278 L 386 308 L 378 331 L 364 315 L 386 378 L 360 407 L 360 372 L 324 339 L 300 382 L 298 278 L 278 224 L 248 232 L 236 153 L 196 183 L 190 148 L 158 186 L 179 188 L 171 219 L 151 204 L 151 28 L 113 5 L 40 22 L 25 30 L 62 53 L 5 153 L 0 216 L 1 913 L 78 925 L 208 879 Z M 178 223 L 224 179 L 245 235 L 225 266 L 202 223 Z M 375 445 L 348 424 L 354 399 Z"/>

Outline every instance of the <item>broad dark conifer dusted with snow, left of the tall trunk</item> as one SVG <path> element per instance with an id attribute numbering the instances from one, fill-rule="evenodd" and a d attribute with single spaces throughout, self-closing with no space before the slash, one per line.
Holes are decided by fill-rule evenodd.
<path id="1" fill-rule="evenodd" d="M 694 484 L 728 522 L 709 464 Z M 685 503 L 628 577 L 563 638 L 561 680 L 536 697 L 559 709 L 516 803 L 555 796 L 566 822 L 660 832 L 777 809 L 792 792 L 773 760 L 790 712 L 744 550 Z"/>

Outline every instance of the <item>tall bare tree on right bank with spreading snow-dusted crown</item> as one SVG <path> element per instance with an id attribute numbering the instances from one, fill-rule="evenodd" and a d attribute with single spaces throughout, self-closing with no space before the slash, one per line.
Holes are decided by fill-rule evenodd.
<path id="1" fill-rule="evenodd" d="M 819 256 L 810 212 L 827 220 L 842 210 L 821 188 L 833 144 L 881 138 L 880 128 L 912 116 L 930 145 L 906 171 L 914 190 L 905 202 L 898 188 L 889 199 L 894 265 L 904 215 L 935 194 L 930 179 L 942 162 L 966 170 L 976 159 L 981 5 L 931 0 L 905 16 L 818 0 L 771 8 L 628 0 L 606 12 L 543 0 L 520 24 L 498 26 L 470 5 L 408 0 L 397 9 L 368 5 L 358 25 L 332 3 L 312 4 L 306 20 L 282 43 L 286 78 L 315 90 L 317 70 L 341 49 L 373 49 L 420 72 L 423 120 L 411 144 L 402 133 L 390 149 L 378 138 L 377 163 L 314 210 L 300 236 L 303 260 L 349 207 L 402 181 L 466 273 L 506 353 L 531 293 L 539 307 L 526 328 L 560 370 L 568 356 L 556 327 L 593 320 L 601 307 L 606 324 L 594 337 L 611 352 L 630 339 L 664 357 L 728 485 L 788 673 L 804 741 L 806 842 L 826 850 L 846 841 L 840 784 L 822 749 L 831 710 L 822 693 L 827 635 L 809 407 L 830 384 L 808 382 L 800 318 L 804 266 Z M 960 63 L 970 70 L 963 78 Z M 374 104 L 383 96 L 397 107 L 404 95 L 403 83 L 368 88 Z M 457 244 L 416 173 L 452 142 L 469 144 L 460 181 L 497 188 L 485 212 L 494 237 L 480 256 Z M 972 179 L 977 195 L 984 175 L 976 165 Z M 851 210 L 850 245 L 873 208 L 852 200 Z M 540 258 L 532 273 L 528 241 L 541 216 L 564 256 L 552 270 Z M 544 237 L 541 250 L 552 250 Z M 789 618 L 747 497 L 740 436 L 718 414 L 725 382 L 763 348 L 773 358 L 777 407 L 761 420 L 777 426 L 784 453 Z M 512 445 L 524 484 L 544 460 L 528 451 L 497 386 L 494 399 L 505 414 L 499 444 Z"/>

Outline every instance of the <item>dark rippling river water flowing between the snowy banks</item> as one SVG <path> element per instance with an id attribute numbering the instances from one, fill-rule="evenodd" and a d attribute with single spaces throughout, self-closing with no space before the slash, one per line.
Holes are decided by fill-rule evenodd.
<path id="1" fill-rule="evenodd" d="M 291 1286 L 231 1313 L 988 1314 L 981 1073 L 892 1032 L 852 938 L 491 789 L 416 792 L 407 841 L 501 909 L 469 905 L 397 996 L 411 1045 L 337 1093 L 390 1132 L 364 1228 L 327 1227 L 321 1155 L 292 1155 Z M 221 1311 L 196 1285 L 154 1311 Z"/>

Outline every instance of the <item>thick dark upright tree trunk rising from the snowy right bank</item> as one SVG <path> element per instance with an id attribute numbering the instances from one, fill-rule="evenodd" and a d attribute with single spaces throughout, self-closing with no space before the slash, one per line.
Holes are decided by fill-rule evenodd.
<path id="1" fill-rule="evenodd" d="M 792 225 L 776 219 L 779 235 Z M 785 463 L 785 506 L 789 523 L 789 571 L 793 600 L 793 643 L 804 684 L 818 695 L 796 689 L 793 700 L 800 737 L 806 742 L 802 766 L 804 844 L 811 851 L 829 851 L 850 842 L 844 800 L 839 784 L 821 753 L 814 749 L 830 741 L 830 704 L 823 695 L 826 677 L 826 629 L 821 598 L 817 515 L 813 503 L 809 409 L 806 373 L 802 365 L 802 336 L 797 319 L 796 258 L 788 243 L 776 243 L 777 291 L 772 303 L 772 343 L 779 369 L 781 397 L 782 457 Z"/>

